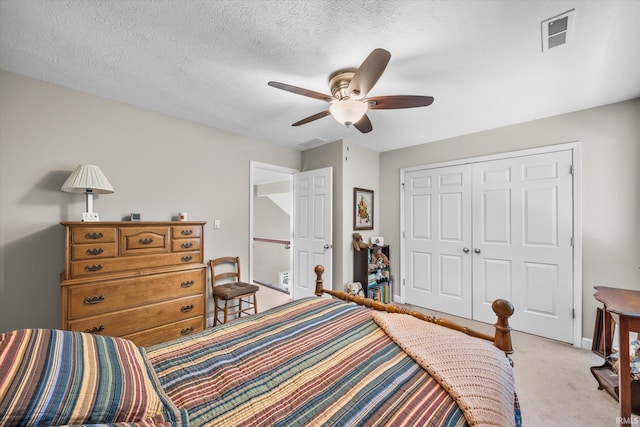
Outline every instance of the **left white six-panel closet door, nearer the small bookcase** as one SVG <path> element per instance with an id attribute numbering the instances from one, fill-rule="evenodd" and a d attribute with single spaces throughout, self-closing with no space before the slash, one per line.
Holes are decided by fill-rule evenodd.
<path id="1" fill-rule="evenodd" d="M 470 182 L 468 165 L 405 174 L 407 303 L 471 318 Z"/>

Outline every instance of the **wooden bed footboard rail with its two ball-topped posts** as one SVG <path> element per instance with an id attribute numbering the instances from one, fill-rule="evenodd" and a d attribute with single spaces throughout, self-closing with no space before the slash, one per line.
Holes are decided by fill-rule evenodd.
<path id="1" fill-rule="evenodd" d="M 383 304 L 380 301 L 374 301 L 369 298 L 356 296 L 344 291 L 334 291 L 332 289 L 323 288 L 322 275 L 324 274 L 324 266 L 318 264 L 315 266 L 314 271 L 316 273 L 316 295 L 322 296 L 322 294 L 329 294 L 342 301 L 351 301 L 364 307 L 372 308 L 378 311 L 386 311 L 387 313 L 402 313 L 416 317 L 420 320 L 435 323 L 440 326 L 444 326 L 449 329 L 462 332 L 472 337 L 482 338 L 487 341 L 491 341 L 500 350 L 504 351 L 505 355 L 509 358 L 510 354 L 513 354 L 513 346 L 511 344 L 511 326 L 509 326 L 509 317 L 514 312 L 513 304 L 504 299 L 497 299 L 491 305 L 493 312 L 496 314 L 498 321 L 493 325 L 495 333 L 493 336 L 484 334 L 482 332 L 474 331 L 466 326 L 459 325 L 447 319 L 437 318 L 435 316 L 427 316 L 424 313 L 417 311 L 411 311 L 405 307 L 400 307 L 394 304 Z M 513 365 L 511 358 L 510 363 Z"/>

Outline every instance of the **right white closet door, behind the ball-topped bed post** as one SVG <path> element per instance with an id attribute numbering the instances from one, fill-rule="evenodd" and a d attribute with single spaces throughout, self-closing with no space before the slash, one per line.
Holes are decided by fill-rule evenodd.
<path id="1" fill-rule="evenodd" d="M 510 300 L 514 329 L 573 340 L 571 151 L 473 165 L 473 318 Z"/>

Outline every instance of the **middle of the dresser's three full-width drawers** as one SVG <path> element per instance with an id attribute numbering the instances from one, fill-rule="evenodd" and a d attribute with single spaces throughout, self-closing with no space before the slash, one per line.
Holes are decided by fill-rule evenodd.
<path id="1" fill-rule="evenodd" d="M 68 318 L 77 319 L 143 304 L 204 294 L 205 270 L 74 285 L 70 286 L 67 292 Z"/>

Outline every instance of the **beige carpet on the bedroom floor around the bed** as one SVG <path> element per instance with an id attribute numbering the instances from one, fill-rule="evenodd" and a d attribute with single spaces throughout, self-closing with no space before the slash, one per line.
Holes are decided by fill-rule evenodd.
<path id="1" fill-rule="evenodd" d="M 289 301 L 289 296 L 261 287 L 260 311 Z M 478 331 L 493 334 L 493 326 L 455 316 L 443 315 L 419 307 L 412 310 L 445 317 Z M 598 390 L 589 368 L 602 359 L 588 350 L 569 344 L 514 331 L 512 356 L 515 364 L 516 391 L 524 426 L 617 426 L 618 402 Z M 633 416 L 633 425 L 640 417 Z"/>

